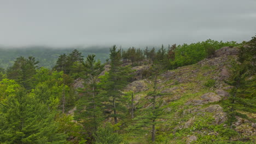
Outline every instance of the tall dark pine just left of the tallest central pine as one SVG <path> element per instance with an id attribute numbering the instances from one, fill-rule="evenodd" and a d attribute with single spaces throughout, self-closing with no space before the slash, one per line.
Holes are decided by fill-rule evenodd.
<path id="1" fill-rule="evenodd" d="M 103 97 L 99 94 L 100 86 L 98 85 L 98 76 L 103 71 L 103 65 L 100 61 L 96 62 L 95 55 L 88 55 L 84 67 L 84 88 L 79 91 L 84 96 L 77 105 L 75 117 L 79 121 L 86 122 L 86 127 L 89 127 L 88 131 L 95 133 L 103 118 Z"/>

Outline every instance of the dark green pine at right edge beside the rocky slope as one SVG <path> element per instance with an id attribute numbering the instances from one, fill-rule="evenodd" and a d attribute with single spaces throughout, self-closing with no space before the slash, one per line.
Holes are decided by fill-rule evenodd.
<path id="1" fill-rule="evenodd" d="M 238 111 L 256 111 L 255 100 L 255 49 L 256 38 L 253 37 L 247 46 L 241 46 L 238 52 L 238 62 L 232 65 L 232 75 L 226 81 L 233 86 L 228 101 L 224 101 L 224 107 L 228 109 L 228 124 L 232 127 L 232 122 L 236 121 L 235 116 L 243 116 Z M 247 117 L 248 118 L 248 117 Z"/>

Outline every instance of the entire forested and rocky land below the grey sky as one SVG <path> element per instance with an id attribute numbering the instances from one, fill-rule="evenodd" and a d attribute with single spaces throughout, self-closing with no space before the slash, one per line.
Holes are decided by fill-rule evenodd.
<path id="1" fill-rule="evenodd" d="M 0 143 L 256 141 L 256 37 L 0 53 Z"/>

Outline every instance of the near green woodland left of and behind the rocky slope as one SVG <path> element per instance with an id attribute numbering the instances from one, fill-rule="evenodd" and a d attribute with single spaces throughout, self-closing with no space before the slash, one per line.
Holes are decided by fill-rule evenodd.
<path id="1" fill-rule="evenodd" d="M 105 64 L 95 55 L 84 58 L 73 50 L 60 55 L 53 69 L 38 67 L 32 56 L 18 57 L 11 67 L 0 69 L 0 143 L 121 143 L 122 134 L 129 130 L 147 129 L 155 141 L 162 112 L 161 102 L 155 99 L 160 95 L 157 79 L 162 71 L 194 64 L 212 57 L 220 47 L 236 45 L 209 39 L 158 50 L 113 46 Z M 251 51 L 243 50 L 240 59 L 252 61 L 245 57 L 252 58 Z M 146 75 L 153 85 L 148 93 L 153 106 L 137 116 L 133 92 L 124 89 L 133 80 L 131 67 L 145 64 L 150 65 Z M 76 88 L 74 80 L 79 79 L 83 86 Z M 230 101 L 235 109 L 234 100 Z M 137 124 L 128 127 L 129 122 Z"/>

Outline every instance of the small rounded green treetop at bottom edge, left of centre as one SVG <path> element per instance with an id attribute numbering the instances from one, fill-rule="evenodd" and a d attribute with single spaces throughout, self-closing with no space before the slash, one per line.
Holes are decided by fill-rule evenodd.
<path id="1" fill-rule="evenodd" d="M 106 123 L 104 127 L 100 127 L 96 131 L 95 144 L 119 144 L 121 142 L 123 142 L 123 137 L 115 133 L 110 123 Z"/>

